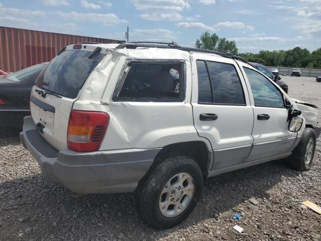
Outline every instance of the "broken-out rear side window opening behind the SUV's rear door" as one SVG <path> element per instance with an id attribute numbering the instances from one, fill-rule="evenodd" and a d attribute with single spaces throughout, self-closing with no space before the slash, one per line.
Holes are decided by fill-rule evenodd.
<path id="1" fill-rule="evenodd" d="M 183 100 L 184 66 L 181 61 L 130 62 L 116 98 L 132 101 Z"/>

